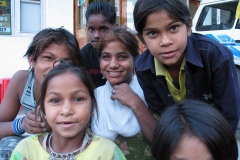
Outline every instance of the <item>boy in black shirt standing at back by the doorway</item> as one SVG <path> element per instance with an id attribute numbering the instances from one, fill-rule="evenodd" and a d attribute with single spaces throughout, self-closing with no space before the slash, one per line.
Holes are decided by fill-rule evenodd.
<path id="1" fill-rule="evenodd" d="M 98 49 L 103 36 L 116 24 L 117 9 L 109 3 L 93 2 L 85 13 L 89 44 L 81 49 L 84 64 L 96 87 L 104 85 L 106 79 L 100 71 Z"/>

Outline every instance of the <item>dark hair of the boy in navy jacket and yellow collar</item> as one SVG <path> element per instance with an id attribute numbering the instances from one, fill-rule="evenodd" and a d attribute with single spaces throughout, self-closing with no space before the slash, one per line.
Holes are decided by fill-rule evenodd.
<path id="1" fill-rule="evenodd" d="M 191 27 L 191 15 L 185 0 L 137 0 L 133 17 L 134 25 L 139 36 L 142 36 L 147 17 L 151 13 L 161 10 L 165 10 L 172 19 L 181 21 Z"/>

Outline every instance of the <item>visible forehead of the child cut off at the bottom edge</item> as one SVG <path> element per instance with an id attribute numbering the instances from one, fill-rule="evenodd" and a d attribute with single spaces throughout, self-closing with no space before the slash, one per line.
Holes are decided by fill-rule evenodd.
<path id="1" fill-rule="evenodd" d="M 170 160 L 213 160 L 206 144 L 198 137 L 183 135 Z"/>

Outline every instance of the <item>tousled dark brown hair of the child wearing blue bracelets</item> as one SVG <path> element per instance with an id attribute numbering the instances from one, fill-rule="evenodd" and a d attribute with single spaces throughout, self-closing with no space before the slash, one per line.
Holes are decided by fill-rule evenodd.
<path id="1" fill-rule="evenodd" d="M 46 28 L 41 30 L 34 36 L 24 57 L 32 56 L 33 61 L 36 62 L 43 50 L 52 43 L 66 44 L 72 63 L 79 67 L 83 66 L 78 41 L 72 33 L 63 28 Z"/>

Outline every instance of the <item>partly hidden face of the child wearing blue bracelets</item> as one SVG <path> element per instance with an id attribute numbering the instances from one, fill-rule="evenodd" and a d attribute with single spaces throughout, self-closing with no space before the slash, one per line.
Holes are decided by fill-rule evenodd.
<path id="1" fill-rule="evenodd" d="M 29 58 L 31 67 L 34 68 L 35 83 L 41 85 L 44 77 L 53 68 L 53 63 L 59 59 L 71 59 L 66 44 L 52 43 L 33 62 L 33 57 Z"/>

